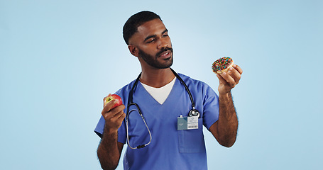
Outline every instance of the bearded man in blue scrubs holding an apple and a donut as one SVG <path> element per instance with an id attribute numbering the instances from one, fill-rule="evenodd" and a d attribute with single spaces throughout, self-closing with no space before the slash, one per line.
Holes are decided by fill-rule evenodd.
<path id="1" fill-rule="evenodd" d="M 132 81 L 116 94 L 124 104 L 132 100 L 138 108 L 128 108 L 127 118 L 124 105 L 111 109 L 114 103 L 110 102 L 102 110 L 94 130 L 102 137 L 97 149 L 102 169 L 116 169 L 126 142 L 124 169 L 207 169 L 202 125 L 220 145 L 234 145 L 238 120 L 231 89 L 239 83 L 242 69 L 234 65 L 229 72 L 217 75 L 219 96 L 202 81 L 176 76 L 170 69 L 173 48 L 168 30 L 150 11 L 128 19 L 124 40 L 131 54 L 138 57 L 142 72 L 140 82 Z M 199 115 L 187 117 L 191 109 Z M 184 118 L 195 119 L 192 123 L 196 127 L 178 129 Z"/>

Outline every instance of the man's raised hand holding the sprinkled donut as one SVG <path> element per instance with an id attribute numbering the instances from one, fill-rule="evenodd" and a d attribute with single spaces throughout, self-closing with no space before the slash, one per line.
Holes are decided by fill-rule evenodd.
<path id="1" fill-rule="evenodd" d="M 219 78 L 219 94 L 229 94 L 231 89 L 233 89 L 236 84 L 239 84 L 241 74 L 242 69 L 236 64 L 234 64 L 228 72 L 217 74 L 217 77 Z"/>

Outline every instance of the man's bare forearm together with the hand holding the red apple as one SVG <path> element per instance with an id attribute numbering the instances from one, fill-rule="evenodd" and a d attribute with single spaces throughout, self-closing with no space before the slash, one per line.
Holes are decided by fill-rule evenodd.
<path id="1" fill-rule="evenodd" d="M 97 157 L 104 170 L 116 169 L 116 166 L 119 164 L 122 148 L 124 147 L 123 143 L 118 142 L 118 129 L 126 117 L 124 113 L 125 106 L 117 106 L 110 110 L 113 105 L 114 101 L 111 101 L 102 110 L 102 116 L 106 123 L 102 140 L 97 149 Z"/>

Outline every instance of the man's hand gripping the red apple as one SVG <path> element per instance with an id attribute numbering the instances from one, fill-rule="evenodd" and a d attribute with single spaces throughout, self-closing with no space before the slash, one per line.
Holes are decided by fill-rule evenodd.
<path id="1" fill-rule="evenodd" d="M 126 118 L 126 114 L 124 113 L 124 108 L 126 107 L 122 104 L 116 106 L 116 108 L 112 108 L 115 103 L 115 100 L 106 103 L 106 106 L 102 110 L 102 116 L 106 121 L 104 132 L 107 130 L 107 133 L 116 132 L 120 128 L 124 118 Z"/>

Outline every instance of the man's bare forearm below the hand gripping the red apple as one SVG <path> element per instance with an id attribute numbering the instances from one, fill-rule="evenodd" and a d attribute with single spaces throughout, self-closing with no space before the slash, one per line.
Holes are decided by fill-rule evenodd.
<path id="1" fill-rule="evenodd" d="M 107 131 L 107 130 L 104 130 Z M 116 169 L 119 164 L 120 152 L 117 145 L 118 132 L 104 132 L 97 149 L 102 169 Z"/>

